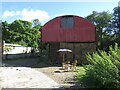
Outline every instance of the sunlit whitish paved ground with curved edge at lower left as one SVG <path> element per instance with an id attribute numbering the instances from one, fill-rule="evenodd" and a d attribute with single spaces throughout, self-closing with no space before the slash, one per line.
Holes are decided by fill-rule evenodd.
<path id="1" fill-rule="evenodd" d="M 54 80 L 26 67 L 0 67 L 0 88 L 59 88 Z"/>

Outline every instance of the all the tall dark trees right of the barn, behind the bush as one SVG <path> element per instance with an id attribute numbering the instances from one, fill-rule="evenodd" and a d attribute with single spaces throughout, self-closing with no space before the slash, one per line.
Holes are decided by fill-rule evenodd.
<path id="1" fill-rule="evenodd" d="M 93 11 L 86 19 L 96 25 L 97 48 L 109 51 L 108 46 L 118 43 L 120 46 L 120 7 L 113 13 Z"/>

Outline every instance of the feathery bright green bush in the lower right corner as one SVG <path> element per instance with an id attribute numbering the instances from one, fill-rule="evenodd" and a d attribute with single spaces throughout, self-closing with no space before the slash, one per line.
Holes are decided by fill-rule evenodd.
<path id="1" fill-rule="evenodd" d="M 120 88 L 120 48 L 117 44 L 109 48 L 109 53 L 99 50 L 87 55 L 90 65 L 83 79 L 89 87 Z"/>

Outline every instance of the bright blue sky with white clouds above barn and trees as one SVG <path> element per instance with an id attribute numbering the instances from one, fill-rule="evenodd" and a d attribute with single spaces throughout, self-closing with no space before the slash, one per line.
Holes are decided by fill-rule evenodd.
<path id="1" fill-rule="evenodd" d="M 43 25 L 59 15 L 77 15 L 85 17 L 92 11 L 109 11 L 118 6 L 118 2 L 2 2 L 2 21 L 8 23 L 16 19 L 32 21 L 38 18 Z"/>

